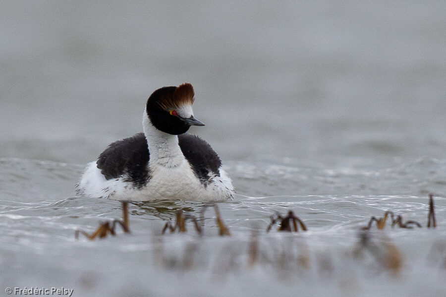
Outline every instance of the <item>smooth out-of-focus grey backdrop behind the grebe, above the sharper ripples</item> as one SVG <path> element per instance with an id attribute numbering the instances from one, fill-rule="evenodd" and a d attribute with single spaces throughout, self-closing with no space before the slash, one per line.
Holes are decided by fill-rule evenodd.
<path id="1" fill-rule="evenodd" d="M 444 1 L 1 1 L 0 157 L 84 164 L 190 82 L 223 161 L 444 158 Z M 358 161 L 359 160 L 359 161 Z M 223 162 L 224 164 L 224 162 Z"/>

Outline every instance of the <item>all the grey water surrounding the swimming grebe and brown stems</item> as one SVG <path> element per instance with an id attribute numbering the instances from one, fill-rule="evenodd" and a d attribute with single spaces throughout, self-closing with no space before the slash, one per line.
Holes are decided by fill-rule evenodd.
<path id="1" fill-rule="evenodd" d="M 0 2 L 0 289 L 445 296 L 445 15 L 443 1 Z M 130 235 L 76 240 L 121 217 L 75 196 L 85 164 L 183 82 L 206 123 L 190 132 L 237 190 L 219 204 L 232 236 L 206 204 L 159 201 L 130 205 Z M 204 235 L 161 234 L 180 210 Z M 288 210 L 308 231 L 267 233 Z M 400 251 L 396 274 L 357 255 L 386 210 L 422 225 L 370 233 Z"/>

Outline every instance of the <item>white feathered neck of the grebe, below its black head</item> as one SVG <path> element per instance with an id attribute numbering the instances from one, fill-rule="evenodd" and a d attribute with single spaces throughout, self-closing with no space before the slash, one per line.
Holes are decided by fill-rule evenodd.
<path id="1" fill-rule="evenodd" d="M 176 167 L 185 159 L 178 145 L 178 136 L 158 130 L 144 111 L 143 129 L 149 145 L 150 163 L 164 167 Z"/>

